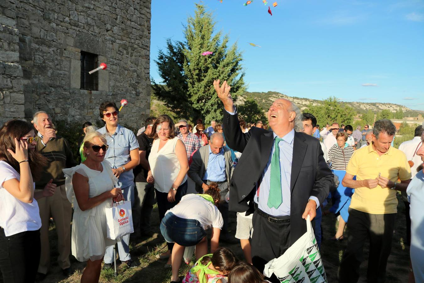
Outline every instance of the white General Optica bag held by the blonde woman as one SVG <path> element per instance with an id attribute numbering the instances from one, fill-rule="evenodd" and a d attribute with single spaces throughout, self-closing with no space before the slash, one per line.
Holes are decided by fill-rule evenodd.
<path id="1" fill-rule="evenodd" d="M 134 232 L 131 202 L 118 202 L 116 206 L 106 207 L 107 237 L 117 239 Z"/>

